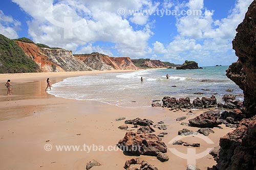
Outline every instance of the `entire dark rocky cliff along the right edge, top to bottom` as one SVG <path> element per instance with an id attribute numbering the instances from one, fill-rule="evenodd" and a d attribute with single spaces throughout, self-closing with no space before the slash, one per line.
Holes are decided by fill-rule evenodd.
<path id="1" fill-rule="evenodd" d="M 219 170 L 255 169 L 256 167 L 256 1 L 249 6 L 245 19 L 237 28 L 233 49 L 238 61 L 227 70 L 227 77 L 244 93 L 247 118 L 238 128 L 220 139 L 220 152 L 216 167 Z M 216 168 L 215 168 L 216 169 Z"/>

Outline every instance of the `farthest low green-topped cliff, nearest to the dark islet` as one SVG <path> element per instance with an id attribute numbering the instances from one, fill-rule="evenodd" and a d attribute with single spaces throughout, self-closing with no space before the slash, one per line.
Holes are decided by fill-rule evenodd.
<path id="1" fill-rule="evenodd" d="M 141 68 L 168 68 L 168 66 L 165 65 L 160 60 L 132 59 L 132 62 L 137 67 L 141 67 Z"/>

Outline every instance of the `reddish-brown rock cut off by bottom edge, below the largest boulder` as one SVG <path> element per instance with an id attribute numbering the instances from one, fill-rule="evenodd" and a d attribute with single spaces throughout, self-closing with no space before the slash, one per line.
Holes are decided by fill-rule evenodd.
<path id="1" fill-rule="evenodd" d="M 138 165 L 139 167 L 131 167 L 131 165 Z M 158 170 L 154 165 L 148 164 L 146 161 L 142 161 L 139 158 L 127 160 L 123 168 L 126 170 Z"/>

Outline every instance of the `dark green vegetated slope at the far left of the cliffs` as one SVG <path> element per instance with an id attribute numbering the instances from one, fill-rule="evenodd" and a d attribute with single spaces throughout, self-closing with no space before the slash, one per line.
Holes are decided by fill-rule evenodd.
<path id="1" fill-rule="evenodd" d="M 38 72 L 39 70 L 39 66 L 25 55 L 15 41 L 0 34 L 0 73 Z"/>

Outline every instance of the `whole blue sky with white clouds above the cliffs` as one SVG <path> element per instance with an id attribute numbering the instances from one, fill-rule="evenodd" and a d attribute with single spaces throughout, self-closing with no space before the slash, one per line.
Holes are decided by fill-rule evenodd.
<path id="1" fill-rule="evenodd" d="M 253 0 L 2 0 L 0 34 L 113 57 L 230 65 Z"/>

